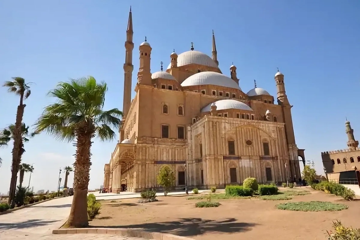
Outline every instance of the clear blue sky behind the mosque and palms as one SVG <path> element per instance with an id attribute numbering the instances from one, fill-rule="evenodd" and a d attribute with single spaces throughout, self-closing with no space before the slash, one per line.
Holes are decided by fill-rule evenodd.
<path id="1" fill-rule="evenodd" d="M 237 66 L 240 87 L 253 80 L 276 96 L 276 68 L 285 75 L 298 148 L 323 172 L 321 151 L 346 148 L 345 117 L 360 138 L 358 94 L 360 80 L 360 2 L 343 1 L 118 1 L 4 0 L 0 1 L 0 80 L 20 76 L 31 85 L 24 122 L 32 125 L 46 96 L 59 81 L 92 75 L 105 80 L 109 91 L 105 109 L 122 109 L 124 42 L 129 7 L 134 22 L 135 87 L 138 46 L 147 36 L 152 72 L 170 62 L 173 49 L 211 55 L 215 31 L 219 66 L 230 75 Z M 133 92 L 134 95 L 134 92 Z M 0 88 L 0 128 L 15 122 L 19 99 Z M 116 141 L 95 140 L 89 188 L 103 184 Z M 71 143 L 41 134 L 25 144 L 23 162 L 33 163 L 31 186 L 55 190 L 59 168 L 74 162 Z M 12 144 L 0 149 L 0 192 L 10 183 Z M 29 175 L 24 184 L 28 184 Z M 64 175 L 62 174 L 62 178 Z M 73 175 L 69 177 L 72 184 Z"/>

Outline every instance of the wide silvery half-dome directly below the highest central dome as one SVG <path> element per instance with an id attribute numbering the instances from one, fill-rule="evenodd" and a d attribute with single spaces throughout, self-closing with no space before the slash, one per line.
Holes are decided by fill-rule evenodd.
<path id="1" fill-rule="evenodd" d="M 222 87 L 230 87 L 233 89 L 240 89 L 239 85 L 231 78 L 224 74 L 217 72 L 199 72 L 186 78 L 181 86 L 196 86 L 196 85 L 216 85 Z"/>

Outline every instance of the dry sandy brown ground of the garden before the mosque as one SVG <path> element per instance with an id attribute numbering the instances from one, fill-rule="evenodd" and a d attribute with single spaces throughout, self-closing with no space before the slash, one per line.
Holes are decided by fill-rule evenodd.
<path id="1" fill-rule="evenodd" d="M 158 202 L 147 206 L 137 205 L 138 199 L 102 201 L 101 214 L 90 225 L 144 228 L 197 240 L 325 240 L 326 230 L 332 229 L 332 221 L 341 220 L 344 225 L 360 227 L 360 201 L 345 201 L 304 187 L 301 190 L 311 194 L 293 196 L 288 201 L 331 201 L 349 208 L 338 212 L 296 212 L 275 208 L 276 204 L 287 201 L 257 198 L 219 199 L 216 201 L 222 204 L 220 207 L 195 208 L 199 200 L 167 196 L 158 197 Z"/>

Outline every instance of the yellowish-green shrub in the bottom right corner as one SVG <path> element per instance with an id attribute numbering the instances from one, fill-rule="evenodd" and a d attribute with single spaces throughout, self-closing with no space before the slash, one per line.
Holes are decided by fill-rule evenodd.
<path id="1" fill-rule="evenodd" d="M 333 222 L 333 231 L 327 231 L 329 240 L 360 240 L 360 229 L 345 227 L 340 221 Z"/>

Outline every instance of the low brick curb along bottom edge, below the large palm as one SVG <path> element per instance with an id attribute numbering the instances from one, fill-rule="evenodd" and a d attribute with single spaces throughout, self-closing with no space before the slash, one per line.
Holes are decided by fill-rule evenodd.
<path id="1" fill-rule="evenodd" d="M 194 240 L 162 232 L 148 232 L 136 228 L 68 228 L 53 230 L 53 234 L 112 234 L 129 237 L 143 237 L 154 240 Z"/>

